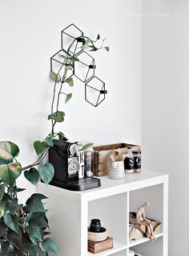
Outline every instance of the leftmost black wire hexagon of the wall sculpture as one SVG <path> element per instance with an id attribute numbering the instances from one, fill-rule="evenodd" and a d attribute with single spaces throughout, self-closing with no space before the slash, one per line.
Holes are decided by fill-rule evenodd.
<path id="1" fill-rule="evenodd" d="M 74 61 L 65 61 L 66 53 L 62 50 L 58 51 L 50 58 L 50 71 L 59 74 L 61 81 L 74 75 Z"/>

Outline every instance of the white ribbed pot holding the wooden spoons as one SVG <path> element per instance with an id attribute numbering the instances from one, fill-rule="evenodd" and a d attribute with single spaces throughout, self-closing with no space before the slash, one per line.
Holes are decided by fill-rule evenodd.
<path id="1" fill-rule="evenodd" d="M 123 161 L 111 161 L 109 166 L 109 178 L 123 179 L 125 177 Z"/>

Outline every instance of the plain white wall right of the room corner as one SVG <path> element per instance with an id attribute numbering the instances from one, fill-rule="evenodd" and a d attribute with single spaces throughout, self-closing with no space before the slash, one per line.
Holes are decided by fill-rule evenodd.
<path id="1" fill-rule="evenodd" d="M 170 175 L 169 255 L 187 256 L 189 2 L 143 0 L 143 167 Z"/>

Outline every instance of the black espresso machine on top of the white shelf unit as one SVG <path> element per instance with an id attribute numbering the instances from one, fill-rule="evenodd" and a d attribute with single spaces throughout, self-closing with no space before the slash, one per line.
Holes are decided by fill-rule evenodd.
<path id="1" fill-rule="evenodd" d="M 83 191 L 101 186 L 100 180 L 86 176 L 84 152 L 78 150 L 77 142 L 54 140 L 49 150 L 49 163 L 54 166 L 50 184 L 74 191 Z"/>

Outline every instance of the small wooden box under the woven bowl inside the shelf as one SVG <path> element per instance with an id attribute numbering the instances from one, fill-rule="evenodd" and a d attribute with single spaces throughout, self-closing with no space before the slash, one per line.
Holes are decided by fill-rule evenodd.
<path id="1" fill-rule="evenodd" d="M 113 238 L 107 237 L 106 240 L 102 242 L 91 242 L 88 240 L 88 251 L 92 254 L 99 254 L 104 250 L 110 250 L 113 248 Z"/>

